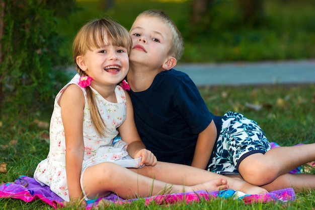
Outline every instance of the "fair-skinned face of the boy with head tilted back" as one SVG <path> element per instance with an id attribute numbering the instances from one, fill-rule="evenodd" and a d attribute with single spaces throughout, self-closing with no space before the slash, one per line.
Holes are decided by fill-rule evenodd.
<path id="1" fill-rule="evenodd" d="M 139 17 L 133 23 L 130 35 L 132 50 L 130 63 L 140 63 L 151 68 L 161 68 L 167 61 L 171 40 L 170 28 L 159 18 Z"/>

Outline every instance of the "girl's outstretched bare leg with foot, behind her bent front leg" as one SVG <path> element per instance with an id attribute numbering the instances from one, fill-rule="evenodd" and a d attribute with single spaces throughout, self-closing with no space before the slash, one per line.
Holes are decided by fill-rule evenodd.
<path id="1" fill-rule="evenodd" d="M 241 178 L 227 177 L 181 164 L 158 161 L 157 164 L 153 167 L 145 166 L 141 169 L 132 170 L 141 175 L 172 184 L 183 184 L 191 186 L 212 179 L 224 178 L 227 180 L 229 189 L 239 190 L 247 194 L 262 194 L 267 192 L 267 190 L 249 184 Z"/>

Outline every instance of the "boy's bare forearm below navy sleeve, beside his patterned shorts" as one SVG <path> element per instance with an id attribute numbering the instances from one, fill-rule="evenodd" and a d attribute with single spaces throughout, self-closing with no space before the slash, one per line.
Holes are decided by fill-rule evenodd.
<path id="1" fill-rule="evenodd" d="M 191 166 L 206 169 L 211 157 L 215 139 L 216 127 L 214 121 L 212 120 L 208 127 L 198 135 L 195 154 Z"/>

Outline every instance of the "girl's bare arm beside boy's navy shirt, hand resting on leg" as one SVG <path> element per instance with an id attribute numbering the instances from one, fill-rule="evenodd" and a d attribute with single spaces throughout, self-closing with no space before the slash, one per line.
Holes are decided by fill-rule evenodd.
<path id="1" fill-rule="evenodd" d="M 127 101 L 126 120 L 118 128 L 121 139 L 128 144 L 127 152 L 132 158 L 142 157 L 141 165 L 154 166 L 156 157 L 151 151 L 145 149 L 134 122 L 131 99 L 126 91 L 125 95 Z"/>

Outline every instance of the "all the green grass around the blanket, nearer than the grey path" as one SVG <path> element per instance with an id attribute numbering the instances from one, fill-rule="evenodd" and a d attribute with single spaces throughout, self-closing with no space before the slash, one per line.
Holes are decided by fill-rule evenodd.
<path id="1" fill-rule="evenodd" d="M 315 85 L 217 86 L 203 87 L 200 92 L 209 109 L 218 115 L 238 111 L 256 120 L 270 141 L 281 146 L 315 142 Z M 259 105 L 258 111 L 246 104 Z M 48 112 L 51 112 L 50 110 Z M 47 117 L 39 121 L 49 122 Z M 0 163 L 7 163 L 8 173 L 0 174 L 1 182 L 12 182 L 20 175 L 33 176 L 37 164 L 49 150 L 48 128 L 39 128 L 38 121 L 21 117 L 15 126 L 0 131 Z M 5 126 L 5 125 L 2 125 Z M 3 127 L 2 127 L 3 128 Z M 315 191 L 297 193 L 294 202 L 255 203 L 246 205 L 233 199 L 213 199 L 210 202 L 177 203 L 171 206 L 136 201 L 106 209 L 314 209 Z M 40 200 L 26 203 L 16 199 L 0 199 L 0 209 L 52 209 Z M 71 208 L 65 208 L 71 209 Z M 105 208 L 104 208 L 105 209 Z"/>

